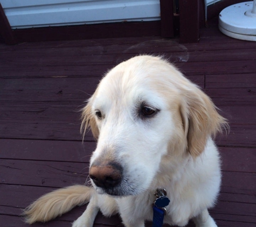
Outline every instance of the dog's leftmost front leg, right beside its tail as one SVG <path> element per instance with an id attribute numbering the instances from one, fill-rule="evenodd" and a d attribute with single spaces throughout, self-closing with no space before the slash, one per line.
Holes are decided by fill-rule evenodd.
<path id="1" fill-rule="evenodd" d="M 73 223 L 72 227 L 92 227 L 99 210 L 96 198 L 93 196 L 85 212 Z"/>

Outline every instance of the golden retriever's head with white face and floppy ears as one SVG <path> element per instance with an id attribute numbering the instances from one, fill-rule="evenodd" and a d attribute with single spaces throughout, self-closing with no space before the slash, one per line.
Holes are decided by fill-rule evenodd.
<path id="1" fill-rule="evenodd" d="M 210 98 L 167 61 L 147 55 L 124 61 L 82 112 L 82 131 L 91 127 L 98 140 L 92 183 L 99 193 L 139 194 L 163 162 L 197 158 L 223 124 Z"/>

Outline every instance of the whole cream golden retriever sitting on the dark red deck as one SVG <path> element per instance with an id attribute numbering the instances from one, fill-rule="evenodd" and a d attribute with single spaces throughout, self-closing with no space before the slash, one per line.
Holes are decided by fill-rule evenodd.
<path id="1" fill-rule="evenodd" d="M 92 227 L 100 210 L 126 227 L 152 221 L 155 191 L 170 200 L 164 223 L 217 226 L 209 215 L 219 193 L 219 152 L 212 138 L 226 120 L 211 99 L 173 65 L 141 55 L 110 70 L 82 110 L 81 130 L 97 140 L 89 177 L 40 197 L 26 222 L 46 222 L 88 203 L 73 227 Z"/>

